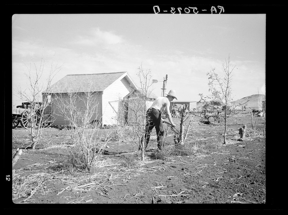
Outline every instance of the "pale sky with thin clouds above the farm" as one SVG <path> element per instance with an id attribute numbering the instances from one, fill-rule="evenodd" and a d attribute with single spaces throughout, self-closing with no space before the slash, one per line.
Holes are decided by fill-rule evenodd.
<path id="1" fill-rule="evenodd" d="M 31 57 L 41 82 L 51 64 L 61 66 L 55 83 L 67 74 L 126 71 L 137 85 L 138 68 L 151 71 L 151 86 L 161 96 L 174 89 L 178 100 L 209 95 L 211 68 L 223 75 L 230 60 L 232 97 L 265 94 L 265 14 L 14 14 L 12 16 L 12 106 L 21 104 Z M 54 61 L 53 61 L 54 60 Z"/>

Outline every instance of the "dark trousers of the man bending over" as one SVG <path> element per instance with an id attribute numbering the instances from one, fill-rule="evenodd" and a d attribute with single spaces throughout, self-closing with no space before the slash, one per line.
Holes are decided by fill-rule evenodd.
<path id="1" fill-rule="evenodd" d="M 145 126 L 145 144 L 144 144 L 144 150 L 147 148 L 147 145 L 149 143 L 150 134 L 152 129 L 155 127 L 156 134 L 157 134 L 157 146 L 158 149 L 162 150 L 164 147 L 164 125 L 161 119 L 161 113 L 159 110 L 154 108 L 149 108 L 146 113 L 146 126 Z M 143 142 L 143 137 L 141 142 Z M 141 144 L 142 145 L 142 144 Z M 140 147 L 139 147 L 140 149 Z"/>

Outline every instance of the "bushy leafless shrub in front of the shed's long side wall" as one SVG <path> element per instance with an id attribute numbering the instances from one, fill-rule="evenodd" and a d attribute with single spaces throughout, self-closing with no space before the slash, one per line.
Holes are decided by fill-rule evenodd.
<path id="1" fill-rule="evenodd" d="M 102 159 L 107 142 L 111 140 L 111 132 L 101 132 L 97 92 L 60 93 L 55 99 L 56 113 L 62 116 L 69 129 L 73 150 L 69 151 L 71 162 L 75 168 L 91 171 L 96 161 Z"/>

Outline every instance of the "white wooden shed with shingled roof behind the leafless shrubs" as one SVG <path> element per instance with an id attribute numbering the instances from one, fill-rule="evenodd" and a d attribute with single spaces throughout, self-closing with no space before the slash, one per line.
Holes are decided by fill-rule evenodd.
<path id="1" fill-rule="evenodd" d="M 66 75 L 54 83 L 49 92 L 51 95 L 51 110 L 55 117 L 53 125 L 68 125 L 69 122 L 61 116 L 57 107 L 59 95 L 62 97 L 68 92 L 84 94 L 94 92 L 97 95 L 98 108 L 93 120 L 98 120 L 103 125 L 115 124 L 119 99 L 128 95 L 136 84 L 127 72 L 96 73 L 96 74 L 71 74 Z M 83 104 L 79 102 L 77 106 Z"/>

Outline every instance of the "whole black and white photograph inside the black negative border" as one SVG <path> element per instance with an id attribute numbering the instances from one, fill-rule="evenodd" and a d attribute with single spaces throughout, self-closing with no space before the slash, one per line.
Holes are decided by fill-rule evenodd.
<path id="1" fill-rule="evenodd" d="M 226 6 L 12 14 L 13 206 L 265 207 L 268 15 Z"/>

